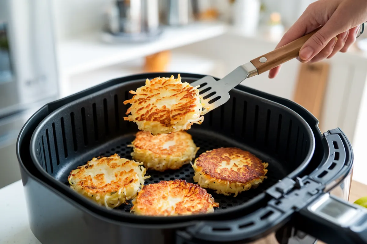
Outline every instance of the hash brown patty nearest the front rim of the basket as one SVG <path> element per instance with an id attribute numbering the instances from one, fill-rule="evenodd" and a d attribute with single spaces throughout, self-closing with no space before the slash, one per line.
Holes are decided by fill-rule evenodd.
<path id="1" fill-rule="evenodd" d="M 185 180 L 145 185 L 132 204 L 132 213 L 150 216 L 212 213 L 219 206 L 205 189 Z"/>

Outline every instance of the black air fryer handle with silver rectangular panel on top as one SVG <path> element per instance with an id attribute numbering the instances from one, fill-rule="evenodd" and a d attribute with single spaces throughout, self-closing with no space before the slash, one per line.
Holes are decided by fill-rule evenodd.
<path id="1" fill-rule="evenodd" d="M 367 243 L 367 209 L 324 193 L 302 209 L 297 228 L 326 243 Z"/>

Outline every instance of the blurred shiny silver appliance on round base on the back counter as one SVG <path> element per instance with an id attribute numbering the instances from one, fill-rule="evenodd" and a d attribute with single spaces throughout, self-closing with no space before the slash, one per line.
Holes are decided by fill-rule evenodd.
<path id="1" fill-rule="evenodd" d="M 105 14 L 107 42 L 149 41 L 161 34 L 158 0 L 112 0 Z"/>

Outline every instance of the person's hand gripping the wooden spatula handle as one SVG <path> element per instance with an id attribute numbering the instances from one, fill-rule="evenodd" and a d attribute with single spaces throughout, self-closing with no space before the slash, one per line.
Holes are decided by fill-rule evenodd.
<path id="1" fill-rule="evenodd" d="M 322 26 L 302 46 L 297 58 L 302 63 L 314 63 L 346 52 L 355 42 L 361 23 L 367 21 L 366 0 L 319 0 L 310 4 L 290 27 L 276 48 L 284 46 Z M 269 71 L 274 78 L 280 65 Z"/>

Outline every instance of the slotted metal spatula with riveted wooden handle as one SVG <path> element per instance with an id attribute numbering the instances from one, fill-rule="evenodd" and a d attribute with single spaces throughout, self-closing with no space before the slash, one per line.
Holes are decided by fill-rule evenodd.
<path id="1" fill-rule="evenodd" d="M 203 115 L 225 104 L 225 102 L 229 100 L 228 92 L 243 82 L 244 79 L 264 73 L 288 60 L 298 57 L 302 45 L 305 44 L 317 30 L 319 29 L 237 67 L 218 81 L 211 76 L 205 76 L 200 80 L 192 82 L 190 85 L 193 87 L 200 86 L 198 89 L 202 98 L 201 104 L 203 104 L 205 108 L 203 110 Z"/>

